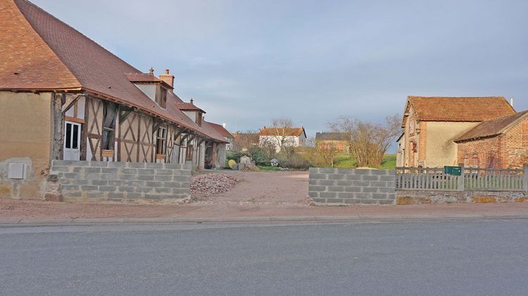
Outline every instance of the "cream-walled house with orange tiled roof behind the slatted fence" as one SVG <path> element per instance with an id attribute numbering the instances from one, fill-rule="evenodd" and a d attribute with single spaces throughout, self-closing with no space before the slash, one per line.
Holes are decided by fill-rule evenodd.
<path id="1" fill-rule="evenodd" d="M 455 140 L 484 121 L 515 114 L 504 97 L 407 98 L 398 166 L 439 167 L 459 164 Z"/>

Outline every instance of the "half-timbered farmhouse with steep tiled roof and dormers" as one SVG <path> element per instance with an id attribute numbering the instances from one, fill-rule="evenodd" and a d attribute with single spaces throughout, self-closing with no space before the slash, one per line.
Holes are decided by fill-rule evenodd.
<path id="1" fill-rule="evenodd" d="M 227 140 L 169 70 L 143 73 L 29 1 L 1 0 L 0 27 L 1 196 L 42 192 L 54 159 L 225 163 Z M 13 162 L 28 168 L 15 189 Z"/>

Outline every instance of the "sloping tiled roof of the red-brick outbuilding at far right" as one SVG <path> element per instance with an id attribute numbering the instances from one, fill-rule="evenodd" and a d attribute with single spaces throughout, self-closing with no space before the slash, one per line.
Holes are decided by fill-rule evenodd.
<path id="1" fill-rule="evenodd" d="M 455 142 L 500 135 L 526 116 L 528 116 L 528 111 L 522 111 L 509 116 L 499 117 L 491 121 L 484 121 L 467 131 L 464 135 L 458 137 Z"/>

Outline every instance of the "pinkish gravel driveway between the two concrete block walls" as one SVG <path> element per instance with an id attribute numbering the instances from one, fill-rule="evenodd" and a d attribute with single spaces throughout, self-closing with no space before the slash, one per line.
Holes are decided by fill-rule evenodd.
<path id="1" fill-rule="evenodd" d="M 303 204 L 308 198 L 308 172 L 229 172 L 239 183 L 218 195 L 196 194 L 194 202 L 213 204 Z"/>

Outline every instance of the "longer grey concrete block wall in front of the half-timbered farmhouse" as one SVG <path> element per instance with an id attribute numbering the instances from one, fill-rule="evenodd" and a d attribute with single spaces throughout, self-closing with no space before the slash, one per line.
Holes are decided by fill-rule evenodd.
<path id="1" fill-rule="evenodd" d="M 191 196 L 191 168 L 183 164 L 54 160 L 50 175 L 57 176 L 63 199 L 68 201 L 159 201 Z"/>

